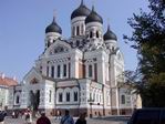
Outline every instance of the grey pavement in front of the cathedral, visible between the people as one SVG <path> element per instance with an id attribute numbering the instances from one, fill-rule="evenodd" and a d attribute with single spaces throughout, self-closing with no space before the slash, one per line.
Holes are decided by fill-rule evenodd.
<path id="1" fill-rule="evenodd" d="M 50 117 L 52 124 L 60 124 L 60 120 L 54 120 L 53 117 Z M 78 117 L 74 117 L 74 121 L 76 121 Z M 128 117 L 120 117 L 120 116 L 106 116 L 106 117 L 93 117 L 93 118 L 86 118 L 87 124 L 126 124 Z M 32 124 L 35 124 L 37 120 L 33 120 Z M 4 124 L 28 124 L 22 118 L 11 118 L 7 117 L 4 120 Z"/>

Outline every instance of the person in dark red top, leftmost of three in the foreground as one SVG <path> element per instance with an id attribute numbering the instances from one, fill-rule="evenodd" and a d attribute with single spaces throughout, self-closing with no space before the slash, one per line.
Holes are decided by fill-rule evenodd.
<path id="1" fill-rule="evenodd" d="M 37 124 L 51 124 L 51 121 L 45 116 L 45 113 L 41 113 L 41 117 L 38 118 Z"/>

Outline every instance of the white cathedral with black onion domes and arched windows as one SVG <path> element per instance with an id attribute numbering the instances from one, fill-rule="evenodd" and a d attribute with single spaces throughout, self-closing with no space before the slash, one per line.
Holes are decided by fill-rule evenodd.
<path id="1" fill-rule="evenodd" d="M 83 0 L 71 13 L 71 37 L 64 39 L 55 17 L 45 28 L 44 50 L 19 85 L 9 90 L 8 110 L 69 110 L 73 116 L 126 115 L 134 108 L 133 95 L 123 82 L 124 58 L 117 37 Z"/>

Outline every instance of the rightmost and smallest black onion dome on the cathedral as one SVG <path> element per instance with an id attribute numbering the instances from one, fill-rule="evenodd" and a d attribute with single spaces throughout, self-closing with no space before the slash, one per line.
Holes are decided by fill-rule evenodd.
<path id="1" fill-rule="evenodd" d="M 115 35 L 115 33 L 110 30 L 110 25 L 107 27 L 107 31 L 104 34 L 104 41 L 106 41 L 106 40 L 115 40 L 115 41 L 117 41 L 117 37 Z"/>

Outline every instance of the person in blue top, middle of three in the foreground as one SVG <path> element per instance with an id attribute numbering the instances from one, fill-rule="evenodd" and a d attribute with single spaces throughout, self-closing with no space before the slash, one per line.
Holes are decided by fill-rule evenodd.
<path id="1" fill-rule="evenodd" d="M 70 115 L 70 111 L 65 110 L 64 116 L 61 118 L 60 124 L 74 124 L 73 117 Z"/>

